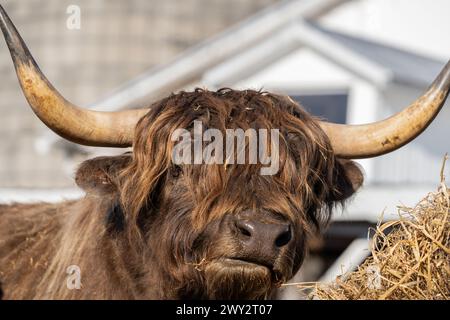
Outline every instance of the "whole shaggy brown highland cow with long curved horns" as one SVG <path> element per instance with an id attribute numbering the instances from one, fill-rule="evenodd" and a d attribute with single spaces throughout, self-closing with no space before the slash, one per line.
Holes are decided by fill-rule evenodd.
<path id="1" fill-rule="evenodd" d="M 79 144 L 133 147 L 81 164 L 75 180 L 83 199 L 0 206 L 6 299 L 270 298 L 298 271 L 308 237 L 362 185 L 349 159 L 414 139 L 450 87 L 447 64 L 403 112 L 362 126 L 323 122 L 288 97 L 252 90 L 198 89 L 146 109 L 95 112 L 53 88 L 1 7 L 0 26 L 24 94 L 49 128 Z M 278 171 L 174 163 L 172 135 L 192 133 L 195 121 L 222 133 L 279 130 Z M 80 288 L 69 285 L 72 266 Z"/>

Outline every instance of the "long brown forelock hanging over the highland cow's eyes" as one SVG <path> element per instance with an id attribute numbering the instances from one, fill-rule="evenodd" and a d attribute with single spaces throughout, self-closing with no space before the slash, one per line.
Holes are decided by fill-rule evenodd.
<path id="1" fill-rule="evenodd" d="M 173 94 L 151 109 L 137 125 L 133 159 L 121 174 L 121 201 L 132 224 L 143 209 L 158 206 L 152 192 L 161 185 L 170 187 L 174 179 L 182 179 L 184 186 L 178 183 L 174 200 L 189 207 L 196 230 L 227 213 L 256 207 L 290 220 L 300 218 L 305 226 L 312 222 L 318 227 L 327 220 L 328 214 L 320 211 L 324 204 L 331 205 L 327 199 L 334 191 L 334 156 L 317 122 L 290 99 L 252 90 L 197 89 Z M 176 142 L 171 134 L 178 128 L 192 132 L 194 120 L 201 120 L 204 130 L 223 133 L 234 128 L 279 129 L 278 173 L 262 176 L 259 164 L 194 164 L 183 165 L 181 177 L 173 177 Z"/>

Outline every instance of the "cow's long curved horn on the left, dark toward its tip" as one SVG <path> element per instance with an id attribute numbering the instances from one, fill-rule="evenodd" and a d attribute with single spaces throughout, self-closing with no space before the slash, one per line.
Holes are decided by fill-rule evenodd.
<path id="1" fill-rule="evenodd" d="M 101 147 L 128 147 L 136 123 L 149 109 L 99 112 L 70 103 L 42 74 L 27 46 L 0 6 L 2 29 L 25 97 L 47 127 L 72 142 Z"/>

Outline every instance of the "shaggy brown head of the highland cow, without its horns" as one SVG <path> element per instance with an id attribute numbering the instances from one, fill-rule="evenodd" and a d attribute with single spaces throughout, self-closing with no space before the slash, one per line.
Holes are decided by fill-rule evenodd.
<path id="1" fill-rule="evenodd" d="M 90 193 L 116 193 L 109 228 L 141 233 L 147 273 L 170 275 L 163 283 L 177 296 L 267 297 L 298 270 L 308 235 L 328 221 L 333 205 L 362 184 L 359 168 L 336 158 L 317 122 L 286 97 L 197 90 L 150 109 L 136 127 L 133 153 L 85 162 L 77 183 Z M 230 129 L 254 129 L 256 140 L 234 139 L 235 162 L 240 152 L 246 161 L 174 163 L 174 133 L 194 137 L 196 122 L 202 134 L 215 129 L 224 137 L 224 155 Z M 262 174 L 263 164 L 249 163 L 251 145 L 268 146 L 258 133 L 274 128 L 279 144 L 270 153 L 278 168 Z M 203 152 L 210 142 L 202 142 Z"/>

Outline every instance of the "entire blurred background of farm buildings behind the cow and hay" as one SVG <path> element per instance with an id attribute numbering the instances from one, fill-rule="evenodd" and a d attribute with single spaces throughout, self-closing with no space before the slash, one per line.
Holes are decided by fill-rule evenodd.
<path id="1" fill-rule="evenodd" d="M 197 86 L 284 93 L 340 123 L 388 117 L 421 95 L 450 58 L 448 0 L 9 0 L 2 5 L 70 101 L 146 106 Z M 81 161 L 123 150 L 63 141 L 31 112 L 0 41 L 0 203 L 82 196 Z M 330 280 L 368 255 L 367 228 L 439 182 L 450 106 L 400 150 L 359 161 L 363 189 L 335 213 L 294 282 Z M 450 172 L 447 167 L 447 174 Z M 297 298 L 285 287 L 283 298 Z"/>

